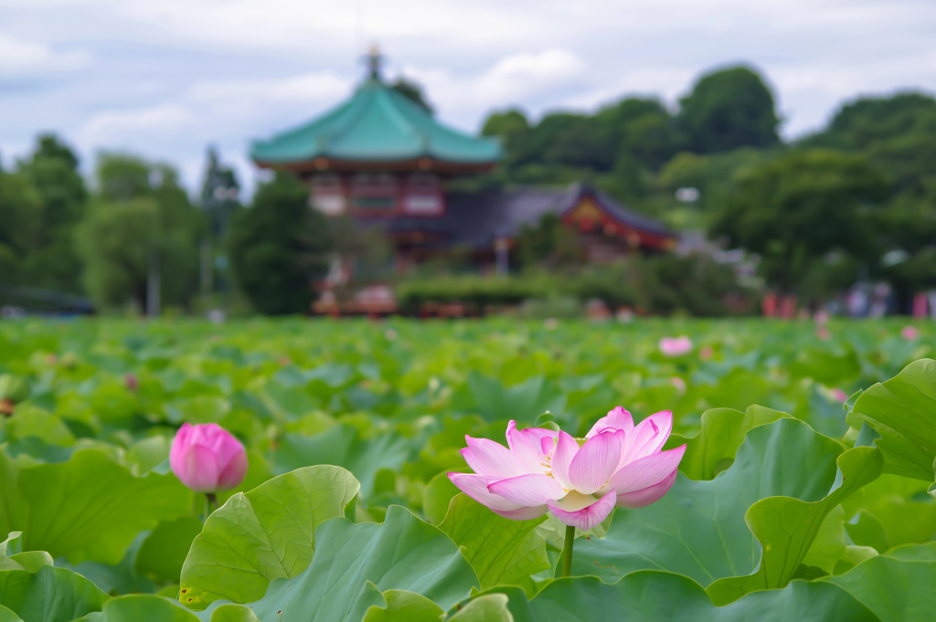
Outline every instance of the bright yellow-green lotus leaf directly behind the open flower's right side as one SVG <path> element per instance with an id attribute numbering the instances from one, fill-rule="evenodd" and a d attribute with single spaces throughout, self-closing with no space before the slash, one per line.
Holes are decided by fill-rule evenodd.
<path id="1" fill-rule="evenodd" d="M 763 406 L 749 406 L 746 412 L 714 408 L 702 413 L 702 429 L 694 437 L 672 434 L 665 449 L 686 444 L 680 471 L 691 480 L 710 480 L 731 466 L 748 431 L 790 415 Z"/>

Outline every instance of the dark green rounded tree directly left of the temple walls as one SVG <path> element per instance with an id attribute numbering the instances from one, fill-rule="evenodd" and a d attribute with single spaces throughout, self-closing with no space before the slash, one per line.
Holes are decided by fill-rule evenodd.
<path id="1" fill-rule="evenodd" d="M 235 279 L 262 313 L 309 311 L 314 282 L 328 271 L 330 246 L 325 216 L 309 207 L 309 189 L 287 172 L 260 185 L 253 205 L 231 222 Z"/>

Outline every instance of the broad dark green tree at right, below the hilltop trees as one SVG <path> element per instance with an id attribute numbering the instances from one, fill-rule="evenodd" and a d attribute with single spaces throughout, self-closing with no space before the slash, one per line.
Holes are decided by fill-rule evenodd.
<path id="1" fill-rule="evenodd" d="M 823 282 L 816 272 L 838 265 L 838 255 L 876 261 L 881 249 L 872 218 L 888 190 L 863 156 L 791 152 L 737 182 L 710 234 L 758 253 L 768 283 L 802 292 Z"/>

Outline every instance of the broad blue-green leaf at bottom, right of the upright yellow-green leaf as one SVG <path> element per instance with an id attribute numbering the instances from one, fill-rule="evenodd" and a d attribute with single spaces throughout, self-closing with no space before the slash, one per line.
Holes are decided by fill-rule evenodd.
<path id="1" fill-rule="evenodd" d="M 315 533 L 306 571 L 276 579 L 249 606 L 262 622 L 358 622 L 381 591 L 415 592 L 443 610 L 480 585 L 459 547 L 439 528 L 391 505 L 383 525 L 335 518 Z"/>

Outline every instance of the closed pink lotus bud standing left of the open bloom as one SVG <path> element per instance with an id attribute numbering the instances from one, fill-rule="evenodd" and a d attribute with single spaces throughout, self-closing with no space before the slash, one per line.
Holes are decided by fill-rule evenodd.
<path id="1" fill-rule="evenodd" d="M 169 466 L 196 492 L 236 488 L 247 473 L 247 453 L 234 436 L 217 424 L 183 424 L 172 441 Z"/>

